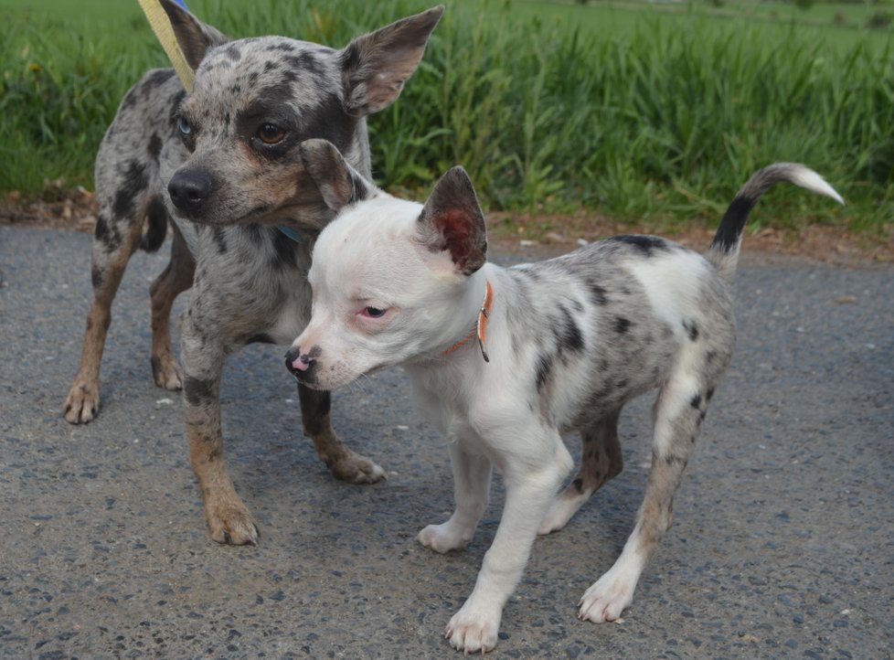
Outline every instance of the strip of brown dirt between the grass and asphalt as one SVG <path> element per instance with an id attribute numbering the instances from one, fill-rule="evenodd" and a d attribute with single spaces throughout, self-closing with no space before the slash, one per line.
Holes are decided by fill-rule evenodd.
<path id="1" fill-rule="evenodd" d="M 84 188 L 67 188 L 48 182 L 43 197 L 23 199 L 10 193 L 0 205 L 0 224 L 92 231 L 96 224 L 96 198 Z M 488 215 L 489 239 L 500 249 L 537 256 L 560 254 L 583 242 L 616 234 L 649 233 L 648 227 L 621 223 L 596 213 L 574 216 Z M 561 228 L 539 229 L 539 228 Z M 664 233 L 694 250 L 707 249 L 714 229 L 702 227 Z M 889 267 L 894 264 L 894 225 L 885 235 L 854 233 L 841 227 L 809 226 L 799 231 L 760 229 L 745 237 L 743 258 L 772 260 L 798 257 L 849 268 Z"/>

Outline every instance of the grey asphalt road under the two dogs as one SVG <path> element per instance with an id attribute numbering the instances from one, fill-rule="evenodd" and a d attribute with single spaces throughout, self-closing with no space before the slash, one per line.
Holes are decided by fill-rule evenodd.
<path id="1" fill-rule="evenodd" d="M 455 655 L 442 629 L 474 585 L 502 495 L 497 479 L 467 552 L 414 541 L 449 511 L 452 480 L 404 375 L 335 396 L 336 430 L 388 471 L 351 486 L 302 436 L 282 347 L 230 358 L 229 467 L 261 544 L 219 546 L 179 396 L 150 376 L 147 289 L 165 254 L 127 271 L 99 418 L 62 419 L 89 255 L 84 234 L 0 227 L 0 657 Z M 737 356 L 623 623 L 580 622 L 575 605 L 632 527 L 651 400 L 625 410 L 623 474 L 537 540 L 495 657 L 894 653 L 894 271 L 752 260 L 738 281 Z"/>

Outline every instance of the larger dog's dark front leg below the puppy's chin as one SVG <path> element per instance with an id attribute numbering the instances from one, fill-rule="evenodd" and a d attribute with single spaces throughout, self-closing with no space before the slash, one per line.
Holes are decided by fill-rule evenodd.
<path id="1" fill-rule="evenodd" d="M 352 452 L 335 435 L 330 419 L 332 398 L 329 392 L 298 385 L 304 434 L 314 441 L 316 453 L 336 479 L 349 484 L 374 484 L 385 478 L 385 471 L 366 456 Z"/>

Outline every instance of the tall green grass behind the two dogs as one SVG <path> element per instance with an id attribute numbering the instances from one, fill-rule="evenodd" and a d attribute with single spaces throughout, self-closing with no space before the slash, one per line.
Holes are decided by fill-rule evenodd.
<path id="1" fill-rule="evenodd" d="M 233 36 L 333 46 L 430 4 L 189 3 Z M 135 0 L 81 3 L 76 16 L 73 5 L 0 0 L 0 190 L 36 193 L 59 176 L 91 186 L 118 101 L 165 65 Z M 755 169 L 793 160 L 846 208 L 781 190 L 755 222 L 890 227 L 894 33 L 860 27 L 877 5 L 447 5 L 416 76 L 369 122 L 380 185 L 424 197 L 460 163 L 491 209 L 583 206 L 661 229 L 714 224 Z"/>

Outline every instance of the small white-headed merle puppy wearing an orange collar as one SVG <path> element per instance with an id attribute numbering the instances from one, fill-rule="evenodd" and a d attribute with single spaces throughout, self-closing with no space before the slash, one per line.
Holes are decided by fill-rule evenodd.
<path id="1" fill-rule="evenodd" d="M 652 470 L 633 533 L 580 599 L 580 618 L 617 620 L 670 527 L 733 354 L 732 277 L 750 209 L 781 181 L 841 197 L 804 165 L 770 165 L 733 199 L 704 257 L 655 236 L 621 236 L 506 269 L 486 261 L 484 216 L 461 167 L 421 205 L 369 185 L 332 144 L 308 140 L 301 150 L 339 215 L 314 247 L 313 314 L 287 367 L 319 389 L 407 369 L 453 467 L 456 506 L 449 520 L 420 531 L 427 548 L 465 548 L 493 469 L 503 473 L 500 526 L 474 591 L 447 625 L 455 648 L 494 648 L 537 533 L 565 527 L 621 472 L 621 410 L 658 390 Z M 561 433 L 572 430 L 583 439 L 580 472 L 557 495 L 573 465 Z"/>

